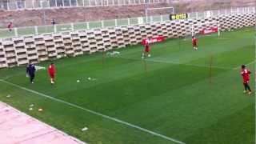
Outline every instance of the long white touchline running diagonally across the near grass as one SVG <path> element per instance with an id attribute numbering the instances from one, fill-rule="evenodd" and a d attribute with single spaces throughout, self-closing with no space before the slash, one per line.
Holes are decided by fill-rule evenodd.
<path id="1" fill-rule="evenodd" d="M 135 128 L 135 129 L 138 129 L 138 130 L 142 130 L 142 131 L 144 131 L 144 132 L 146 132 L 146 133 L 153 134 L 153 135 L 158 136 L 158 137 L 160 137 L 160 138 L 164 138 L 164 139 L 166 139 L 166 140 L 169 140 L 169 141 L 172 141 L 172 142 L 176 142 L 176 143 L 180 143 L 180 144 L 185 144 L 185 142 L 181 142 L 181 141 L 178 141 L 178 140 L 176 140 L 176 139 L 174 139 L 174 138 L 167 137 L 166 135 L 158 134 L 158 133 L 156 133 L 156 132 L 154 132 L 154 131 L 147 130 L 147 129 L 142 128 L 142 127 L 140 127 L 140 126 L 133 125 L 133 124 L 131 124 L 131 123 L 129 123 L 129 122 L 122 121 L 122 120 L 120 120 L 120 119 L 118 119 L 118 118 L 112 118 L 112 117 L 110 117 L 110 116 L 108 116 L 108 115 L 98 113 L 98 112 L 96 112 L 96 111 L 94 111 L 94 110 L 86 109 L 86 108 L 84 108 L 84 107 L 82 107 L 82 106 L 78 106 L 78 105 L 75 105 L 75 104 L 73 104 L 73 103 L 66 102 L 66 101 L 63 101 L 63 100 L 61 100 L 61 99 L 51 97 L 50 95 L 46 95 L 46 94 L 39 93 L 39 92 L 37 92 L 37 91 L 35 91 L 35 90 L 27 89 L 26 87 L 16 85 L 16 84 L 14 84 L 14 83 L 12 83 L 12 82 L 7 82 L 7 81 L 2 80 L 2 79 L 0 79 L 0 82 L 6 83 L 6 84 L 8 84 L 8 85 L 10 85 L 10 86 L 18 87 L 19 89 L 22 89 L 22 90 L 29 91 L 30 93 L 38 94 L 38 95 L 40 95 L 40 96 L 42 96 L 42 97 L 45 97 L 45 98 L 50 98 L 50 99 L 52 99 L 52 100 L 54 100 L 54 101 L 56 101 L 56 102 L 61 102 L 61 103 L 64 103 L 64 104 L 66 104 L 66 105 L 68 105 L 68 106 L 73 106 L 73 107 L 75 107 L 75 108 L 78 108 L 78 109 L 81 109 L 81 110 L 85 110 L 85 111 L 87 111 L 87 112 L 89 112 L 89 113 L 91 113 L 91 114 L 98 115 L 98 116 L 100 116 L 100 117 L 102 117 L 102 118 L 110 119 L 110 120 L 112 120 L 112 121 L 114 121 L 114 122 L 122 123 L 123 125 L 130 126 L 130 127 Z"/>

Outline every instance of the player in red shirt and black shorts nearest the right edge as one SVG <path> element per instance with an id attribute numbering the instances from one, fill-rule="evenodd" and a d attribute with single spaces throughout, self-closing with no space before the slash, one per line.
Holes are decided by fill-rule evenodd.
<path id="1" fill-rule="evenodd" d="M 242 75 L 242 80 L 243 80 L 243 86 L 245 86 L 244 93 L 248 92 L 248 94 L 251 94 L 250 86 L 249 86 L 249 81 L 250 81 L 250 70 L 246 68 L 245 65 L 241 66 L 241 75 Z"/>

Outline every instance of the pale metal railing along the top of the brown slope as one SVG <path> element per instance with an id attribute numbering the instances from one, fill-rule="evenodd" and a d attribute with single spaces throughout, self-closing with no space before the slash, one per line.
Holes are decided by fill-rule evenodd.
<path id="1" fill-rule="evenodd" d="M 10 0 L 6 2 L 1 1 L 0 9 L 20 10 L 81 6 L 123 6 L 163 2 L 166 2 L 166 0 Z"/>

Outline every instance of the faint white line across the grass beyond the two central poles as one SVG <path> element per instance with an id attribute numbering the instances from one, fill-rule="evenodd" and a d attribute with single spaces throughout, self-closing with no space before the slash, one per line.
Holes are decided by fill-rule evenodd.
<path id="1" fill-rule="evenodd" d="M 162 62 L 162 63 L 170 63 L 174 65 L 185 65 L 185 66 L 197 66 L 197 67 L 205 67 L 205 68 L 210 68 L 210 66 L 205 66 L 205 65 L 193 65 L 193 64 L 187 64 L 187 63 L 179 63 L 179 62 L 170 62 L 170 61 L 162 61 L 162 60 L 153 60 L 153 59 L 139 59 L 139 58 L 125 58 L 125 57 L 115 57 L 115 58 L 123 58 L 123 59 L 131 59 L 131 60 L 136 60 L 136 61 L 147 61 L 147 62 Z M 223 70 L 231 70 L 231 68 L 227 67 L 222 67 L 222 66 L 211 66 L 213 68 L 217 69 L 223 69 Z"/>

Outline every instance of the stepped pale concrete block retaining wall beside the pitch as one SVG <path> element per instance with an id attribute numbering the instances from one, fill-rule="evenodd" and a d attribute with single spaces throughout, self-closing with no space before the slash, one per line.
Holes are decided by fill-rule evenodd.
<path id="1" fill-rule="evenodd" d="M 255 26 L 256 14 L 233 14 L 219 19 L 221 30 Z M 63 34 L 47 34 L 31 37 L 0 39 L 0 68 L 19 66 L 28 62 L 42 62 L 49 59 L 80 54 L 91 54 L 112 50 L 142 42 L 142 38 L 163 35 L 179 38 L 194 31 L 218 25 L 218 18 L 190 19 L 182 21 L 150 23 L 137 26 L 122 26 L 102 30 L 80 30 Z M 206 23 L 213 22 L 208 25 Z"/>

